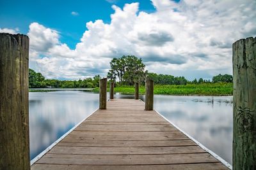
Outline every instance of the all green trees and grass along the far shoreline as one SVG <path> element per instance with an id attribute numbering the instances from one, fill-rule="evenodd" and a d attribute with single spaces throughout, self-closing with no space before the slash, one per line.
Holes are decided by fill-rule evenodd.
<path id="1" fill-rule="evenodd" d="M 229 74 L 218 74 L 211 80 L 203 78 L 193 81 L 184 76 L 173 76 L 170 74 L 148 73 L 142 59 L 134 55 L 124 55 L 113 58 L 110 62 L 108 80 L 115 83 L 115 92 L 121 94 L 134 94 L 134 84 L 140 84 L 140 94 L 145 94 L 145 80 L 154 81 L 154 94 L 177 95 L 177 96 L 232 96 L 233 77 Z M 29 69 L 29 92 L 49 92 L 57 89 L 88 88 L 88 92 L 99 92 L 100 75 L 83 80 L 56 80 L 45 79 L 41 73 Z M 108 83 L 109 85 L 109 83 Z M 38 89 L 38 88 L 49 88 Z M 56 90 L 57 90 L 56 89 Z"/>

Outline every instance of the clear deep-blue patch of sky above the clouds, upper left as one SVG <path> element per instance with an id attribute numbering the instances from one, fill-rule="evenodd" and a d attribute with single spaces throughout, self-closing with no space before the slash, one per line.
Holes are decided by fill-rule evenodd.
<path id="1" fill-rule="evenodd" d="M 60 40 L 74 49 L 81 35 L 86 30 L 86 22 L 103 20 L 111 21 L 112 4 L 124 6 L 125 3 L 140 3 L 140 11 L 154 12 L 156 9 L 151 1 L 62 1 L 62 0 L 1 0 L 0 26 L 11 29 L 19 28 L 26 34 L 32 22 L 38 22 L 45 27 L 51 27 L 61 32 Z M 71 15 L 72 11 L 78 15 Z"/>

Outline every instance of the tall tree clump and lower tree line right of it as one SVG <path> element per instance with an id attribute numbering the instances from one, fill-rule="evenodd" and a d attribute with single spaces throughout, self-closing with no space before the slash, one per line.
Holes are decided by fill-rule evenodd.
<path id="1" fill-rule="evenodd" d="M 195 79 L 189 81 L 184 76 L 172 76 L 169 74 L 156 74 L 148 73 L 145 70 L 145 64 L 143 64 L 142 59 L 138 59 L 134 55 L 124 55 L 120 58 L 114 58 L 110 62 L 110 67 L 108 72 L 108 78 L 111 81 L 115 81 L 119 85 L 134 85 L 135 82 L 144 85 L 145 78 L 150 78 L 154 80 L 157 85 L 186 85 L 187 83 L 219 83 L 219 82 L 232 82 L 232 75 L 229 74 L 218 74 L 212 77 L 211 80 L 204 80 L 203 78 Z M 117 81 L 119 80 L 119 81 Z"/>

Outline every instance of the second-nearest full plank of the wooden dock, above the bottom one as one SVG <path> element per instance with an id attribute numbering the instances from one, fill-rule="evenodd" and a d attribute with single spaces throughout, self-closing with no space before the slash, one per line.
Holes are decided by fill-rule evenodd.
<path id="1" fill-rule="evenodd" d="M 40 164 L 67 165 L 161 165 L 218 162 L 209 153 L 169 155 L 74 155 L 46 153 Z"/>

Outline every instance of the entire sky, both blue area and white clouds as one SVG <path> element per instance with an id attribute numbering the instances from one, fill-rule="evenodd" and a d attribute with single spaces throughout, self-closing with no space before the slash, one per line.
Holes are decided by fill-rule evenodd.
<path id="1" fill-rule="evenodd" d="M 46 78 L 106 76 L 113 57 L 149 72 L 232 74 L 232 43 L 256 36 L 255 0 L 0 1 L 0 32 L 27 34 L 29 67 Z"/>

